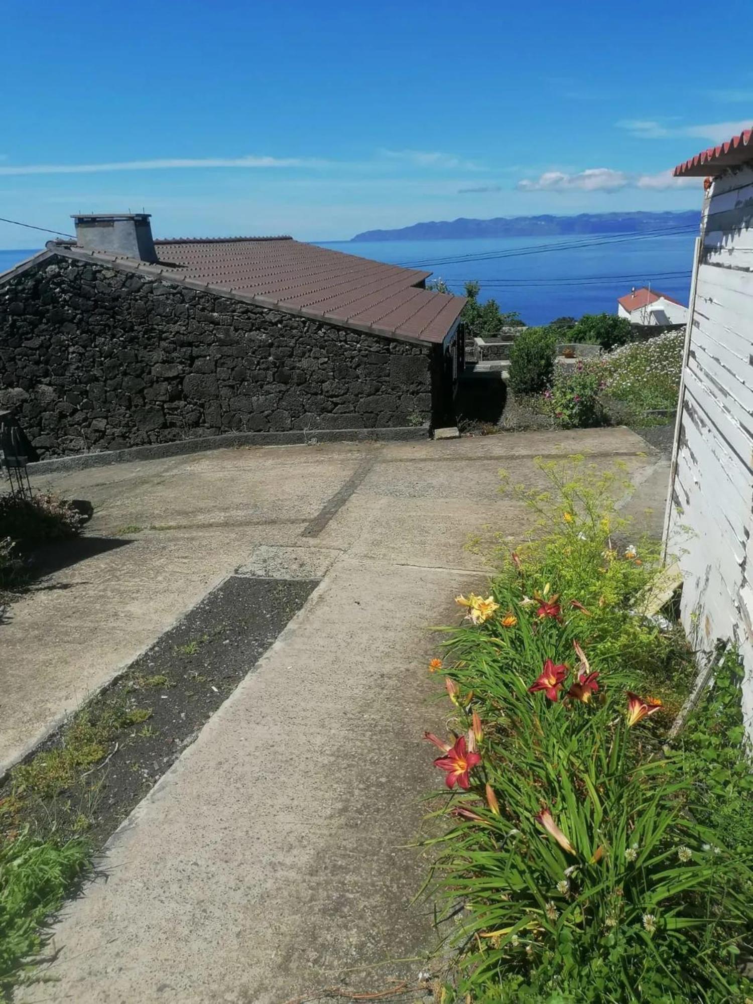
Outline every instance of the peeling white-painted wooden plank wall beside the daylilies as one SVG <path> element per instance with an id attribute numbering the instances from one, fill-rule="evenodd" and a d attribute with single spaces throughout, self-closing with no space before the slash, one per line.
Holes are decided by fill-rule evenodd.
<path id="1" fill-rule="evenodd" d="M 668 505 L 668 551 L 699 650 L 740 646 L 753 732 L 753 165 L 707 193 Z"/>

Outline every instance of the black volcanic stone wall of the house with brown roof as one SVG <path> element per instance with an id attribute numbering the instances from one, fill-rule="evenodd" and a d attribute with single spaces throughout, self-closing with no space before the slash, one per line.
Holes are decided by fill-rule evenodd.
<path id="1" fill-rule="evenodd" d="M 40 456 L 420 425 L 435 363 L 429 345 L 62 255 L 0 285 L 0 406 Z"/>

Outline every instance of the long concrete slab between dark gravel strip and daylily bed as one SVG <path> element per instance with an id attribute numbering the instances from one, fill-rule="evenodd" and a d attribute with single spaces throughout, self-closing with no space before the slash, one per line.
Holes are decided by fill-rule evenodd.
<path id="1" fill-rule="evenodd" d="M 435 780 L 426 624 L 473 581 L 335 564 L 110 840 L 55 932 L 57 982 L 18 999 L 280 1004 L 415 981 L 436 944 L 407 847 Z"/>

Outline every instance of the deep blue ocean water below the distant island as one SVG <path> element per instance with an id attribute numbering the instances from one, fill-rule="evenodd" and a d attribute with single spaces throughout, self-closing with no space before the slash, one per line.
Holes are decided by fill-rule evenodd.
<path id="1" fill-rule="evenodd" d="M 335 251 L 410 265 L 442 278 L 462 293 L 468 279 L 481 283 L 502 310 L 528 324 L 564 315 L 614 313 L 618 296 L 647 286 L 688 302 L 694 233 L 582 237 L 500 237 L 439 241 L 335 241 Z M 0 250 L 0 273 L 34 251 Z"/>

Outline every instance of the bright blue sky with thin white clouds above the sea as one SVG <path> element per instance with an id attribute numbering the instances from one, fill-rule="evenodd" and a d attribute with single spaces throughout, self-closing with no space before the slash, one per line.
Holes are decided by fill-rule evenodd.
<path id="1" fill-rule="evenodd" d="M 327 240 L 693 208 L 667 172 L 753 122 L 752 29 L 750 0 L 5 0 L 0 216 Z"/>

